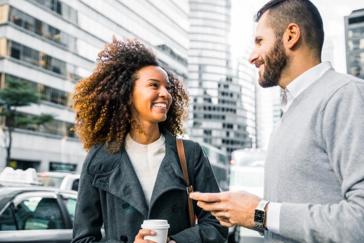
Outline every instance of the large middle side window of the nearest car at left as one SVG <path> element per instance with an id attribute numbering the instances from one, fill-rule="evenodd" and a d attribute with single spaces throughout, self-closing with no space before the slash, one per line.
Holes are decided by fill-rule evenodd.
<path id="1" fill-rule="evenodd" d="M 15 205 L 19 230 L 64 229 L 60 208 L 55 198 L 27 197 Z"/>

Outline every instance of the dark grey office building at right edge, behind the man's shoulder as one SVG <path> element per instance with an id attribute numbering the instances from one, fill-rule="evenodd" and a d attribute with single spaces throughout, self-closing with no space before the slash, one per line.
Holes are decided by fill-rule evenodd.
<path id="1" fill-rule="evenodd" d="M 364 79 L 364 9 L 344 17 L 347 73 Z"/>

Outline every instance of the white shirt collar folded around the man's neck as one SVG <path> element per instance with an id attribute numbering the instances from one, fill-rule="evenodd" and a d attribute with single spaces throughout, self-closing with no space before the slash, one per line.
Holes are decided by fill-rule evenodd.
<path id="1" fill-rule="evenodd" d="M 331 68 L 331 62 L 322 62 L 299 75 L 295 80 L 287 85 L 286 89 L 289 90 L 293 98 L 296 98 L 303 90 L 312 85 L 314 81 L 319 79 Z"/>

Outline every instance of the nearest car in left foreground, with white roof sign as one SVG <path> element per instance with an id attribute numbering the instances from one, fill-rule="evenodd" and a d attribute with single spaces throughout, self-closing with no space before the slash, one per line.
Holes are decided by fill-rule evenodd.
<path id="1" fill-rule="evenodd" d="M 0 242 L 71 242 L 77 191 L 34 185 L 39 182 L 33 174 L 32 183 L 0 175 Z"/>

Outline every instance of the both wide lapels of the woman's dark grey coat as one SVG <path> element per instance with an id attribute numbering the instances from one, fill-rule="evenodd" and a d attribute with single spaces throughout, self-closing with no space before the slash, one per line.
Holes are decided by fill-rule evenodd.
<path id="1" fill-rule="evenodd" d="M 176 139 L 165 128 L 160 127 L 160 131 L 165 136 L 165 157 L 157 174 L 150 208 L 165 192 L 185 191 L 187 186 L 177 153 Z M 124 146 L 120 153 L 120 160 L 117 162 L 116 168 L 109 173 L 97 174 L 92 185 L 127 202 L 145 218 L 149 218 L 150 208 L 148 209 L 142 186 Z"/>

